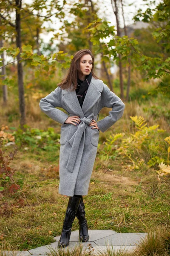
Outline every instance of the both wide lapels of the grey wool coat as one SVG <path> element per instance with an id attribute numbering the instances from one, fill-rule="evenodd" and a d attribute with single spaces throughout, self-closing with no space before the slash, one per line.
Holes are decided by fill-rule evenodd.
<path id="1" fill-rule="evenodd" d="M 76 91 L 70 90 L 62 90 L 62 99 L 65 102 L 65 105 L 77 116 L 84 117 L 85 114 L 94 106 L 99 97 L 101 96 L 101 92 L 103 89 L 103 85 L 98 83 L 100 81 L 98 79 L 94 79 L 92 76 L 91 82 L 88 86 L 88 90 L 83 101 L 82 108 L 79 104 L 79 100 L 77 98 Z"/>

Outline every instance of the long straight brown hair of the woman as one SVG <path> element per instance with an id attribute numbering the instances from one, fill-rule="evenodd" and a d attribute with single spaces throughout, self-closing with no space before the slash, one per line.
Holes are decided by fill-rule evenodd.
<path id="1" fill-rule="evenodd" d="M 91 58 L 93 60 L 91 73 L 94 78 L 98 79 L 98 77 L 93 72 L 94 56 L 93 56 L 92 52 L 89 49 L 82 49 L 74 54 L 74 57 L 71 60 L 71 64 L 68 69 L 68 73 L 67 73 L 66 77 L 64 79 L 62 79 L 61 83 L 58 84 L 58 86 L 60 86 L 61 89 L 71 89 L 71 84 L 73 84 L 73 90 L 76 89 L 78 75 L 80 75 L 80 76 L 83 75 L 82 71 L 80 70 L 79 62 L 80 62 L 80 59 L 82 58 L 82 56 L 85 54 L 91 55 Z"/>

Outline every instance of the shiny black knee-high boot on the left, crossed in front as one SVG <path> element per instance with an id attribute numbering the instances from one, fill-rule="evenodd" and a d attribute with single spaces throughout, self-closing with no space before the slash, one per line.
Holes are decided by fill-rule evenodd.
<path id="1" fill-rule="evenodd" d="M 77 208 L 79 206 L 81 198 L 77 196 L 70 196 L 68 200 L 68 206 L 65 213 L 65 219 L 62 227 L 62 234 L 58 242 L 58 247 L 67 247 L 71 236 L 71 228 L 76 217 Z"/>

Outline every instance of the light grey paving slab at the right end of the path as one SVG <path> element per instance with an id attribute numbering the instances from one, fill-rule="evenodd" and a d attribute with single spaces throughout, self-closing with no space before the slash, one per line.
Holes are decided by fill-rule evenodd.
<path id="1" fill-rule="evenodd" d="M 97 245 L 136 245 L 147 233 L 116 233 L 102 239 L 94 240 Z"/>

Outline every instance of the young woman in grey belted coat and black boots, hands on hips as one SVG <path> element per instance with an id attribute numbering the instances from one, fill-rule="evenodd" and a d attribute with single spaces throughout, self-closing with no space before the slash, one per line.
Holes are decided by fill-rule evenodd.
<path id="1" fill-rule="evenodd" d="M 68 114 L 57 109 L 63 108 Z M 100 121 L 102 108 L 112 108 Z M 79 240 L 88 241 L 83 195 L 88 195 L 99 132 L 105 132 L 124 113 L 125 104 L 94 74 L 94 56 L 88 49 L 74 55 L 68 74 L 58 87 L 40 100 L 40 109 L 61 125 L 59 194 L 69 196 L 58 247 L 69 244 L 75 216 Z"/>

